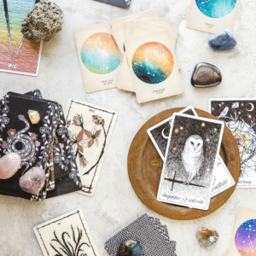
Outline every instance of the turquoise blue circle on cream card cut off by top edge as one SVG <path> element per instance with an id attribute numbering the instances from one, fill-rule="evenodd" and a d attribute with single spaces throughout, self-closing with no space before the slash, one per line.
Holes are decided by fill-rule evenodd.
<path id="1" fill-rule="evenodd" d="M 236 6 L 236 0 L 195 0 L 203 15 L 210 18 L 222 18 L 229 15 Z"/>

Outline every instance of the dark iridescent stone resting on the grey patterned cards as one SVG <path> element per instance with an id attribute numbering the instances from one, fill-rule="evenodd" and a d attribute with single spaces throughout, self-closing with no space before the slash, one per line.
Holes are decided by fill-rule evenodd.
<path id="1" fill-rule="evenodd" d="M 116 253 L 116 256 L 143 256 L 143 247 L 138 241 L 123 241 Z"/>

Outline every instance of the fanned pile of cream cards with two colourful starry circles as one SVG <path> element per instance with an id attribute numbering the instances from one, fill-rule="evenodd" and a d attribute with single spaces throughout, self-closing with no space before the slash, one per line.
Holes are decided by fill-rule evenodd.
<path id="1" fill-rule="evenodd" d="M 118 87 L 137 102 L 183 93 L 174 53 L 177 28 L 156 9 L 74 30 L 87 93 Z"/>

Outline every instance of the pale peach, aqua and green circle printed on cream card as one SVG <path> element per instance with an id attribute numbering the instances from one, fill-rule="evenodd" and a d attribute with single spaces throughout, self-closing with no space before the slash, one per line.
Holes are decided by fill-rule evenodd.
<path id="1" fill-rule="evenodd" d="M 81 59 L 84 67 L 97 74 L 111 73 L 121 62 L 113 36 L 104 32 L 93 34 L 84 41 Z"/>

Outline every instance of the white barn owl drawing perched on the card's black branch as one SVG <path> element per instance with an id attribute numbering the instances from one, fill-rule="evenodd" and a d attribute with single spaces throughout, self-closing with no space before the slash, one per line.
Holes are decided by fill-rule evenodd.
<path id="1" fill-rule="evenodd" d="M 187 181 L 184 184 L 189 185 L 191 180 L 198 174 L 203 160 L 203 140 L 199 135 L 191 135 L 187 138 L 182 153 L 183 166 L 185 172 L 187 172 Z"/>

